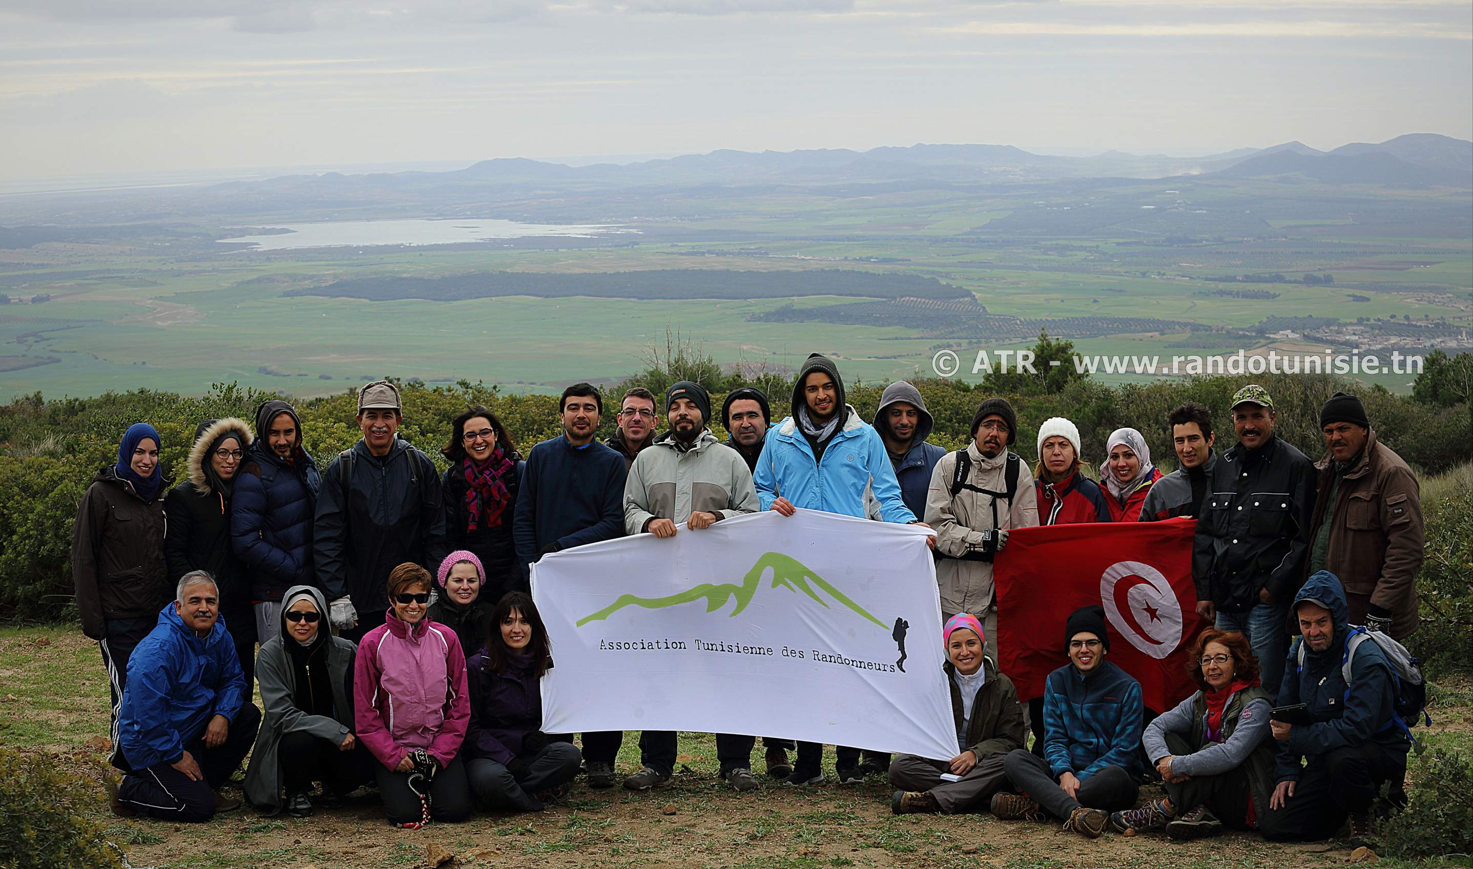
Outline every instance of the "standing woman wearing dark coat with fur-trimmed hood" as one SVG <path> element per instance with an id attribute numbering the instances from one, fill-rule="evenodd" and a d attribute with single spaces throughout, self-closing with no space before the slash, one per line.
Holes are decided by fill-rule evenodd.
<path id="1" fill-rule="evenodd" d="M 256 673 L 256 613 L 250 604 L 250 580 L 230 545 L 230 495 L 250 440 L 250 426 L 245 420 L 227 417 L 200 423 L 186 460 L 189 479 L 164 499 L 169 517 L 164 532 L 169 582 L 178 582 L 191 570 L 203 570 L 215 580 L 219 620 L 236 644 L 246 688 Z"/>

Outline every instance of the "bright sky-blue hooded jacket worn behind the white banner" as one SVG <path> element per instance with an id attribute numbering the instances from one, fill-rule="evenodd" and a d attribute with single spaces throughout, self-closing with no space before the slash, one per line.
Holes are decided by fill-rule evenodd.
<path id="1" fill-rule="evenodd" d="M 822 455 L 815 455 L 813 445 L 797 420 L 798 409 L 806 407 L 803 379 L 813 371 L 825 371 L 834 379 L 840 407 L 837 412 L 843 414 L 829 439 L 819 445 Z M 860 420 L 859 411 L 844 404 L 844 381 L 834 364 L 818 353 L 809 356 L 798 371 L 792 387 L 792 415 L 767 430 L 753 483 L 760 510 L 769 510 L 773 501 L 787 498 L 800 510 L 826 510 L 865 518 L 868 492 L 879 505 L 884 521 L 910 523 L 919 518 L 900 496 L 900 483 L 879 432 Z"/>

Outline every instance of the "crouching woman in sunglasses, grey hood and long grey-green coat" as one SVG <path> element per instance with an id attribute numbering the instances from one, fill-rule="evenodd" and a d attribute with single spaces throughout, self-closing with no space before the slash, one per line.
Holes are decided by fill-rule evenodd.
<path id="1" fill-rule="evenodd" d="M 261 645 L 261 729 L 246 767 L 246 798 L 258 810 L 293 817 L 318 803 L 333 809 L 373 781 L 373 756 L 354 736 L 354 655 L 358 648 L 328 630 L 327 598 L 309 585 L 281 597 L 277 636 Z M 286 789 L 286 800 L 281 791 Z"/>

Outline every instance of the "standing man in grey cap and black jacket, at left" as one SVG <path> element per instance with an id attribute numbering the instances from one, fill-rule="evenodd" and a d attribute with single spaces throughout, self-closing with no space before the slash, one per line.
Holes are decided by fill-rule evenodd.
<path id="1" fill-rule="evenodd" d="M 333 627 L 354 642 L 383 625 L 387 579 L 412 561 L 437 569 L 445 557 L 445 511 L 435 464 L 398 436 L 399 390 L 387 380 L 358 392 L 362 437 L 323 471 L 312 523 L 317 580 Z"/>

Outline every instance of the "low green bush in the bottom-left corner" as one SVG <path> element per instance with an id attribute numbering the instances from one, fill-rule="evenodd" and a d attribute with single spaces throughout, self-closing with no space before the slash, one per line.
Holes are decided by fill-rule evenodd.
<path id="1" fill-rule="evenodd" d="M 0 748 L 0 869 L 122 866 L 84 816 L 97 797 L 47 757 Z"/>

